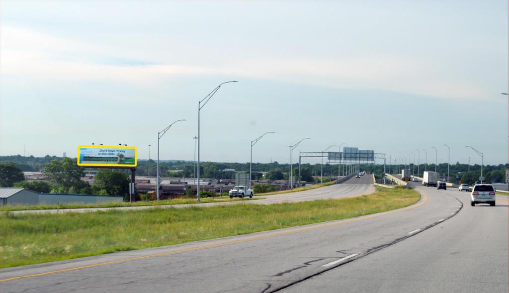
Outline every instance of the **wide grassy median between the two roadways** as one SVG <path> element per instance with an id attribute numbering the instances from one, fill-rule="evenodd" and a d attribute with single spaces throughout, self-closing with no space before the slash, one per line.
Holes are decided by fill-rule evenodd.
<path id="1" fill-rule="evenodd" d="M 271 205 L 0 214 L 0 268 L 353 218 L 411 205 L 411 189 Z"/>

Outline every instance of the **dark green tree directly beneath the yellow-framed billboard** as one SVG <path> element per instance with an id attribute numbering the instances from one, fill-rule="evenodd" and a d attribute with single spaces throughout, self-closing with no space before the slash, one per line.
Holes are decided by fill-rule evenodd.
<path id="1" fill-rule="evenodd" d="M 101 169 L 96 173 L 94 187 L 105 190 L 108 195 L 121 195 L 125 198 L 129 193 L 129 177 L 122 172 Z"/>

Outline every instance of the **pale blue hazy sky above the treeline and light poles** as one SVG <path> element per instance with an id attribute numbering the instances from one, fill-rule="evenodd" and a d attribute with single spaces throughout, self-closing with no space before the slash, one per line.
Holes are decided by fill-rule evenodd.
<path id="1" fill-rule="evenodd" d="M 507 162 L 507 1 L 0 2 L 0 155 Z M 151 145 L 149 148 L 148 145 Z M 437 148 L 437 152 L 432 149 Z M 424 149 L 424 150 L 423 150 Z M 418 150 L 418 151 L 417 151 Z M 419 160 L 420 155 L 420 160 Z M 197 154 L 196 154 L 197 156 Z M 302 163 L 318 163 L 303 158 Z M 383 163 L 379 161 L 378 163 Z M 392 162 L 393 163 L 393 162 Z"/>

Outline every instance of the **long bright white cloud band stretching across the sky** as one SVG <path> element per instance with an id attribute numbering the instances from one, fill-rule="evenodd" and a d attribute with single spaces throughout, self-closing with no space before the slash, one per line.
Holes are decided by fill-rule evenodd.
<path id="1" fill-rule="evenodd" d="M 464 81 L 443 64 L 403 56 L 373 55 L 334 58 L 232 56 L 223 64 L 164 64 L 164 56 L 140 60 L 123 46 L 102 45 L 2 25 L 0 74 L 39 82 L 127 82 L 162 85 L 171 76 L 237 75 L 333 88 L 371 89 L 448 99 L 484 99 L 482 84 Z M 185 46 L 185 45 L 182 45 Z M 138 49 L 140 50 L 140 49 Z M 240 78 L 240 77 L 239 77 Z"/>

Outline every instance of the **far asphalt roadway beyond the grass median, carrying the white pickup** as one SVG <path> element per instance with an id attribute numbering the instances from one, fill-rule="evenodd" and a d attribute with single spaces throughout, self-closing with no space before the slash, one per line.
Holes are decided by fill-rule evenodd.
<path id="1" fill-rule="evenodd" d="M 230 205 L 230 204 L 272 204 L 282 202 L 298 202 L 298 201 L 309 201 L 317 199 L 328 199 L 328 198 L 344 198 L 359 196 L 363 194 L 373 193 L 375 188 L 373 187 L 373 176 L 360 176 L 360 178 L 352 177 L 347 179 L 345 182 L 340 184 L 329 185 L 322 188 L 310 189 L 300 192 L 292 192 L 286 194 L 274 194 L 268 196 L 253 198 L 263 198 L 253 201 L 227 201 L 227 202 L 209 202 L 209 203 L 194 203 L 194 204 L 168 204 L 168 205 L 151 205 L 151 206 L 124 206 L 124 207 L 99 207 L 99 208 L 72 208 L 72 209 L 39 209 L 39 210 L 18 210 L 12 211 L 13 214 L 41 214 L 50 213 L 58 214 L 62 212 L 90 212 L 98 210 L 137 210 L 147 208 L 168 208 L 168 207 L 189 207 L 189 206 L 214 206 L 214 205 Z"/>

